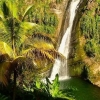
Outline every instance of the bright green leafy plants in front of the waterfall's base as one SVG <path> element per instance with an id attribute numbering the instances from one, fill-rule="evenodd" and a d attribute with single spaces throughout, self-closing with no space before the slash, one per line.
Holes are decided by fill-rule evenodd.
<path id="1" fill-rule="evenodd" d="M 59 82 L 59 76 L 57 74 L 52 83 L 50 82 L 48 78 L 46 78 L 46 83 L 43 83 L 40 81 L 40 79 L 37 79 L 30 86 L 24 85 L 24 90 L 33 92 L 34 94 L 36 94 L 35 95 L 36 98 L 37 96 L 39 96 L 40 98 L 42 97 L 48 98 L 48 99 L 43 99 L 43 100 L 53 100 L 53 98 L 54 99 L 56 98 L 64 99 L 65 98 L 67 100 L 74 100 L 73 98 L 67 96 L 67 93 L 63 93 L 60 90 L 59 86 L 60 86 L 60 82 Z"/>

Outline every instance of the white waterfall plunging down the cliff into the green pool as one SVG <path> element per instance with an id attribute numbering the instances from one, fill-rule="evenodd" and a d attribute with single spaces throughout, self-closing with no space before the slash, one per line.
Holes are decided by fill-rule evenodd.
<path id="1" fill-rule="evenodd" d="M 70 38 L 71 38 L 71 31 L 72 31 L 72 26 L 74 22 L 74 18 L 76 15 L 76 10 L 78 8 L 78 4 L 80 3 L 81 0 L 72 0 L 69 8 L 69 14 L 70 14 L 70 19 L 69 19 L 69 26 L 62 38 L 60 47 L 58 51 L 63 54 L 66 59 L 68 58 L 69 54 L 69 47 L 70 47 Z M 60 80 L 68 79 L 68 72 L 67 72 L 67 60 L 65 62 L 61 62 L 59 59 L 56 59 L 55 64 L 53 66 L 50 80 L 53 80 L 55 78 L 56 74 L 59 74 Z"/>

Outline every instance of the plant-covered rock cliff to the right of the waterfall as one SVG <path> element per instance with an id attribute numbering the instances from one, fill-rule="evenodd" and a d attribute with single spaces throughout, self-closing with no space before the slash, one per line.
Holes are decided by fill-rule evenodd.
<path id="1" fill-rule="evenodd" d="M 100 0 L 86 0 L 78 10 L 72 31 L 69 72 L 100 87 Z"/>

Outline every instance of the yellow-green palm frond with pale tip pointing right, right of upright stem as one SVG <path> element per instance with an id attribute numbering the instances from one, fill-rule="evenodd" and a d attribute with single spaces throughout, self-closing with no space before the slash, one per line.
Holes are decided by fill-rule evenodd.
<path id="1" fill-rule="evenodd" d="M 31 22 L 20 22 L 19 27 L 16 27 L 15 34 L 15 45 L 17 48 L 21 46 L 21 44 L 27 39 L 27 36 L 31 33 L 29 30 L 36 27 L 37 24 Z"/>

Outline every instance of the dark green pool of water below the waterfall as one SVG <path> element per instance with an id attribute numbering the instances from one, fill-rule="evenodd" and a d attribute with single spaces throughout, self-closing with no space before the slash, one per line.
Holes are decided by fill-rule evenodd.
<path id="1" fill-rule="evenodd" d="M 60 82 L 64 91 L 71 90 L 75 100 L 100 100 L 100 88 L 80 78 L 70 78 Z"/>

